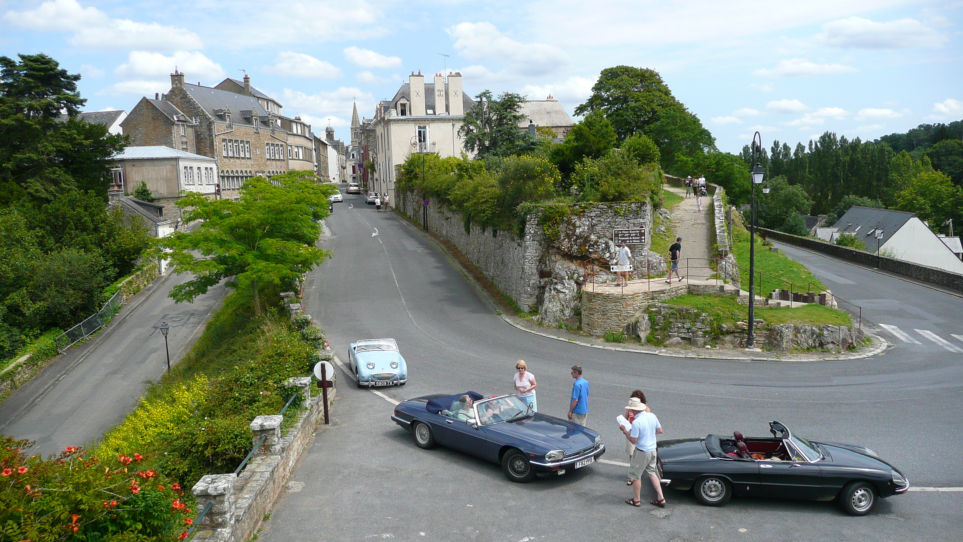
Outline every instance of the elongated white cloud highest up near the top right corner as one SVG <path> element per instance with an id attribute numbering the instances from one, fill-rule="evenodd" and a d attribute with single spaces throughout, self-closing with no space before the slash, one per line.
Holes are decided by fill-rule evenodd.
<path id="1" fill-rule="evenodd" d="M 817 41 L 833 47 L 858 49 L 907 49 L 938 47 L 948 38 L 916 19 L 874 22 L 848 17 L 822 25 Z"/>

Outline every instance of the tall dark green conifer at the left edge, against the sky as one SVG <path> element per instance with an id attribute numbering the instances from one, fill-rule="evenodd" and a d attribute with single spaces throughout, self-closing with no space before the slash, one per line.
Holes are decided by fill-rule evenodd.
<path id="1" fill-rule="evenodd" d="M 105 196 L 104 175 L 125 138 L 76 120 L 86 101 L 77 92 L 80 75 L 43 54 L 19 59 L 0 57 L 0 182 L 41 201 L 74 188 Z"/>

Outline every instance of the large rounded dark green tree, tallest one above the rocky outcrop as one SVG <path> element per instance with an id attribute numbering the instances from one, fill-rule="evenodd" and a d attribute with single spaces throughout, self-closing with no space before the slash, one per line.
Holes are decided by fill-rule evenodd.
<path id="1" fill-rule="evenodd" d="M 664 109 L 678 104 L 658 71 L 616 66 L 605 68 L 592 86 L 592 95 L 575 108 L 576 115 L 601 111 L 612 122 L 618 139 L 644 132 L 658 122 Z"/>

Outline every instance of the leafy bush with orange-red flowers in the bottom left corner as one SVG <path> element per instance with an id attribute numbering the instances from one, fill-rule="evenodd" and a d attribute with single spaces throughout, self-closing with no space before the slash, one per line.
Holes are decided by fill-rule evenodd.
<path id="1" fill-rule="evenodd" d="M 140 453 L 67 447 L 44 460 L 22 452 L 31 444 L 0 438 L 0 540 L 173 540 L 193 522 L 182 486 L 144 469 Z"/>

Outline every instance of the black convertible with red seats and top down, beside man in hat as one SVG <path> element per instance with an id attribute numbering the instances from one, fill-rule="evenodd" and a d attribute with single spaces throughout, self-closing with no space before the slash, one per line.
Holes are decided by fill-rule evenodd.
<path id="1" fill-rule="evenodd" d="M 663 485 L 689 490 L 708 506 L 721 506 L 733 494 L 832 501 L 847 514 L 869 514 L 878 499 L 901 495 L 909 480 L 872 449 L 802 439 L 778 421 L 772 437 L 708 435 L 704 439 L 661 441 Z"/>

